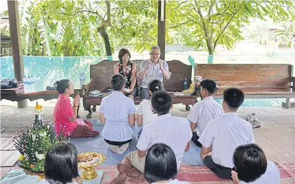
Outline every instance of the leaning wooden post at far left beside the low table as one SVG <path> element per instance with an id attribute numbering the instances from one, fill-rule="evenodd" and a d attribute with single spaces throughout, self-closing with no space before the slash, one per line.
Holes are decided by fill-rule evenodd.
<path id="1" fill-rule="evenodd" d="M 10 25 L 10 38 L 12 45 L 12 58 L 14 76 L 18 81 L 23 80 L 23 49 L 21 47 L 21 28 L 19 25 L 19 4 L 17 0 L 8 0 L 8 15 Z M 27 106 L 26 100 L 17 102 L 19 108 Z"/>

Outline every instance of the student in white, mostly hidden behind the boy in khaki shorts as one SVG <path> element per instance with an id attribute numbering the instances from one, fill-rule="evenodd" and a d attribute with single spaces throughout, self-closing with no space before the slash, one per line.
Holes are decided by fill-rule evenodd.
<path id="1" fill-rule="evenodd" d="M 163 89 L 163 84 L 160 80 L 152 80 L 149 82 L 148 89 L 150 95 L 153 96 L 153 93 Z M 146 126 L 151 124 L 155 122 L 155 119 L 157 119 L 157 113 L 151 106 L 151 100 L 143 100 L 140 102 L 140 105 L 138 106 L 138 116 L 136 118 L 138 126 Z"/>

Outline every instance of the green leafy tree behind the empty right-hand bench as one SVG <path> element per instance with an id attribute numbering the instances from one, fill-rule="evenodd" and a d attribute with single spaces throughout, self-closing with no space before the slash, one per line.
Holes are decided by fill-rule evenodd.
<path id="1" fill-rule="evenodd" d="M 243 39 L 241 27 L 250 19 L 274 21 L 294 19 L 293 1 L 183 1 L 179 6 L 185 12 L 179 19 L 186 19 L 190 27 L 187 45 L 206 46 L 209 52 L 208 63 L 213 62 L 217 45 L 232 49 Z"/>

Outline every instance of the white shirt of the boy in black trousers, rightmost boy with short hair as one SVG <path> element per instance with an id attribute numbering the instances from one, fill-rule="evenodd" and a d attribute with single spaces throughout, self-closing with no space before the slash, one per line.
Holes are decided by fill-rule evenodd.
<path id="1" fill-rule="evenodd" d="M 234 168 L 234 150 L 241 145 L 254 143 L 252 126 L 237 113 L 225 113 L 212 119 L 198 141 L 206 148 L 212 144 L 212 160 L 226 168 Z"/>

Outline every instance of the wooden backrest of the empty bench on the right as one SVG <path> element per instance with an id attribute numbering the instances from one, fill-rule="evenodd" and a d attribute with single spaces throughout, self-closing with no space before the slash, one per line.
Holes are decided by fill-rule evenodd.
<path id="1" fill-rule="evenodd" d="M 292 69 L 285 64 L 198 64 L 195 76 L 215 80 L 221 88 L 285 89 Z"/>

